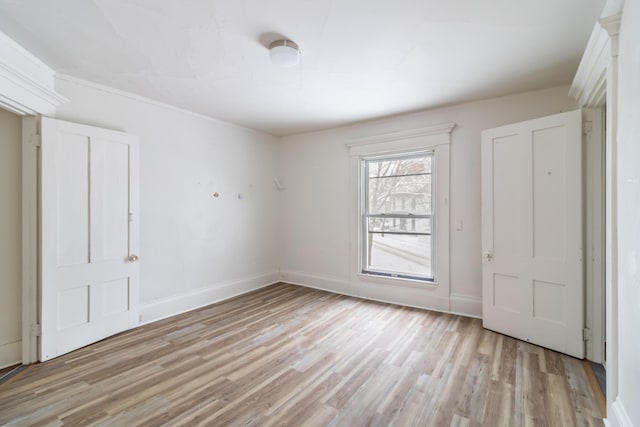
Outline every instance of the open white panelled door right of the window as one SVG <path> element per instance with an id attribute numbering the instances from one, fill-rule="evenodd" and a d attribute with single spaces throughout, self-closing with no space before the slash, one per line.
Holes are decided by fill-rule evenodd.
<path id="1" fill-rule="evenodd" d="M 482 133 L 483 325 L 584 356 L 581 112 Z"/>

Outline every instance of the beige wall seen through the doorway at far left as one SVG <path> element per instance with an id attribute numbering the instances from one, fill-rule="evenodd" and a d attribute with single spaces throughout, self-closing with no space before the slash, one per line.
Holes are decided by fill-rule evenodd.
<path id="1" fill-rule="evenodd" d="M 0 368 L 22 356 L 20 116 L 0 108 Z"/>

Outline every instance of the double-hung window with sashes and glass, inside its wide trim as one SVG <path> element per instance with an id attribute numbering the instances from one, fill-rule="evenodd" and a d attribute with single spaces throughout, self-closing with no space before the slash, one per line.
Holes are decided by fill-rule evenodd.
<path id="1" fill-rule="evenodd" d="M 433 151 L 362 160 L 362 273 L 434 279 Z"/>

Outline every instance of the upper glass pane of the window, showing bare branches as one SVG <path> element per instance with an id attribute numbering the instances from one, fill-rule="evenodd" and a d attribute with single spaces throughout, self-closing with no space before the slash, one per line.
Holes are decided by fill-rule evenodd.
<path id="1" fill-rule="evenodd" d="M 371 166 L 376 165 L 379 169 L 380 163 L 389 162 L 372 162 L 369 168 L 370 173 Z M 370 214 L 432 214 L 430 173 L 370 177 L 367 185 Z"/>

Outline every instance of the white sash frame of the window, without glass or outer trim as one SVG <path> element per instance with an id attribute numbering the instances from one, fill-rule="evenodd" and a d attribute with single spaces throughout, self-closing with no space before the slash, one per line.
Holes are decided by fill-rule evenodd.
<path id="1" fill-rule="evenodd" d="M 376 161 L 393 161 L 393 160 L 405 160 L 405 159 L 414 159 L 421 157 L 430 157 L 431 158 L 431 213 L 429 214 L 372 214 L 369 212 L 370 204 L 369 204 L 369 165 L 372 162 Z M 435 149 L 426 149 L 426 150 L 418 150 L 418 151 L 408 151 L 396 154 L 378 154 L 371 156 L 363 156 L 360 159 L 360 168 L 359 168 L 359 186 L 361 188 L 360 194 L 361 198 L 359 201 L 359 217 L 360 217 L 360 237 L 361 241 L 359 243 L 359 272 L 364 275 L 372 275 L 372 276 L 380 276 L 387 277 L 392 279 L 406 279 L 406 280 L 415 280 L 420 282 L 434 283 L 436 280 L 436 239 L 437 239 L 437 227 L 436 227 L 436 217 L 437 217 L 437 197 L 436 197 L 436 155 Z M 427 235 L 431 237 L 430 240 L 430 271 L 431 275 L 421 275 L 421 274 L 411 274 L 406 271 L 394 271 L 394 270 L 382 270 L 369 268 L 368 259 L 369 259 L 369 219 L 370 218 L 400 218 L 400 219 L 429 219 L 430 222 L 430 231 Z M 391 232 L 389 234 L 403 234 L 403 235 L 425 235 L 426 233 L 416 233 L 416 232 Z"/>

